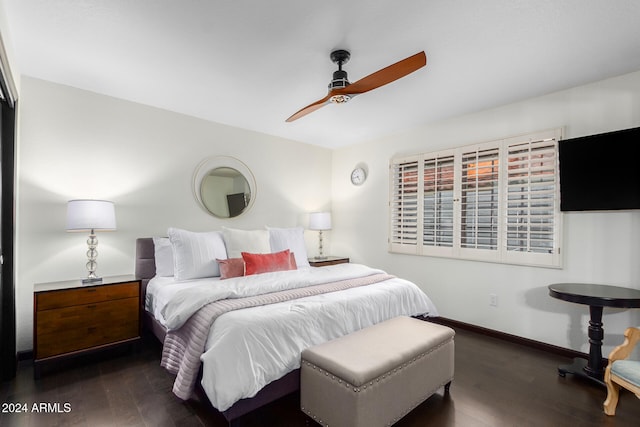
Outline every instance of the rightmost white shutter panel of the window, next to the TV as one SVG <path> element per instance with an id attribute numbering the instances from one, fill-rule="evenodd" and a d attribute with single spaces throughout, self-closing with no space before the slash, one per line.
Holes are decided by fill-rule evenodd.
<path id="1" fill-rule="evenodd" d="M 507 256 L 529 254 L 553 264 L 560 228 L 557 138 L 508 144 L 507 164 Z"/>

